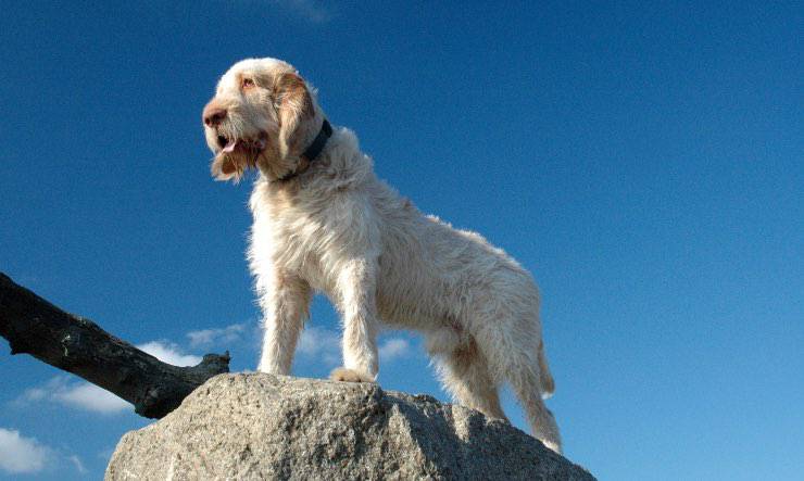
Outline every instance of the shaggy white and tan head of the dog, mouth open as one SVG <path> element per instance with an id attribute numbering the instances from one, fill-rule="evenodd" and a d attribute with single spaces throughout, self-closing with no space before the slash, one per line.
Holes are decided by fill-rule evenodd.
<path id="1" fill-rule="evenodd" d="M 249 59 L 221 77 L 202 121 L 216 179 L 238 180 L 249 167 L 281 178 L 299 167 L 323 114 L 296 68 L 276 59 Z"/>

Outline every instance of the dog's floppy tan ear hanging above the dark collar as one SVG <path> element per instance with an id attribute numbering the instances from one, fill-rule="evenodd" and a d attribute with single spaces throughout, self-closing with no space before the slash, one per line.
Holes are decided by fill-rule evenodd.
<path id="1" fill-rule="evenodd" d="M 304 122 L 315 116 L 313 97 L 304 80 L 296 73 L 280 74 L 275 84 L 275 102 L 279 114 L 279 155 L 285 159 L 291 152 L 300 153 L 304 134 Z"/>

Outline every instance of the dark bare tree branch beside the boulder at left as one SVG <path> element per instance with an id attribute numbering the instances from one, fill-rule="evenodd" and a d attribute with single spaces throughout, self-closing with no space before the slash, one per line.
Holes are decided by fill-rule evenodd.
<path id="1" fill-rule="evenodd" d="M 0 336 L 11 354 L 80 376 L 134 404 L 147 418 L 161 418 L 209 378 L 229 371 L 229 353 L 208 354 L 201 364 L 177 367 L 108 333 L 89 319 L 66 313 L 0 273 Z"/>

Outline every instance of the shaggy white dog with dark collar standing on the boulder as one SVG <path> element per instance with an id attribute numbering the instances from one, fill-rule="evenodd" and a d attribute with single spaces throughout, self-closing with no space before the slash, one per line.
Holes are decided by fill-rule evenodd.
<path id="1" fill-rule="evenodd" d="M 475 232 L 423 215 L 378 180 L 351 130 L 332 130 L 289 64 L 235 64 L 204 107 L 212 174 L 260 177 L 249 261 L 264 313 L 259 369 L 288 375 L 314 291 L 343 322 L 332 379 L 373 382 L 381 326 L 416 329 L 457 402 L 505 419 L 508 382 L 536 438 L 561 450 L 542 396 L 553 392 L 530 275 Z"/>

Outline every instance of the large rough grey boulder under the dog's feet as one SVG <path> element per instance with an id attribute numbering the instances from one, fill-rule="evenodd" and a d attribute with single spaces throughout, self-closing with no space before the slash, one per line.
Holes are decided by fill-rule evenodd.
<path id="1" fill-rule="evenodd" d="M 221 375 L 123 436 L 106 480 L 593 480 L 476 410 L 376 384 Z"/>

